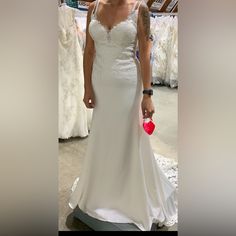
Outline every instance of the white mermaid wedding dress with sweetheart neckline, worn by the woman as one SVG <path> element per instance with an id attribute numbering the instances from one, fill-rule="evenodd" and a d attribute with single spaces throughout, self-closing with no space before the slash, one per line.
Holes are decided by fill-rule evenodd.
<path id="1" fill-rule="evenodd" d="M 99 1 L 91 16 L 96 106 L 83 171 L 69 205 L 103 221 L 150 230 L 154 222 L 167 226 L 177 222 L 176 187 L 163 169 L 169 178 L 176 172 L 165 159 L 154 156 L 142 128 L 136 3 L 129 17 L 111 30 L 96 17 Z"/>

